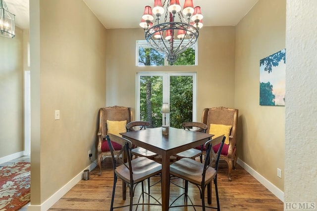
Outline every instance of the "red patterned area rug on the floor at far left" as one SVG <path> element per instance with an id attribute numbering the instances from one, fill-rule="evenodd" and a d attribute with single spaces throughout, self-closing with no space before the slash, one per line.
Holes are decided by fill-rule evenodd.
<path id="1" fill-rule="evenodd" d="M 0 211 L 17 211 L 30 202 L 30 163 L 0 167 Z"/>

